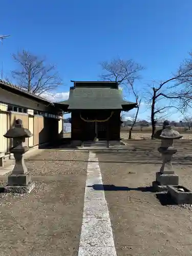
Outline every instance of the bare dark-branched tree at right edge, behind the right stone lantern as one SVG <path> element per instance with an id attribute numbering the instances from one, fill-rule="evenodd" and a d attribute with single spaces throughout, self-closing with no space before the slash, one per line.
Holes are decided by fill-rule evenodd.
<path id="1" fill-rule="evenodd" d="M 166 105 L 158 103 L 162 99 L 169 99 Z M 175 108 L 182 114 L 186 112 L 187 108 L 191 108 L 192 100 L 192 53 L 189 52 L 189 58 L 185 59 L 179 66 L 176 74 L 172 78 L 158 83 L 158 86 L 152 87 L 150 97 L 151 106 L 151 121 L 152 121 L 152 138 L 154 137 L 156 123 L 158 121 L 158 114 L 166 116 L 165 111 Z M 162 118 L 162 117 L 161 117 Z"/>

